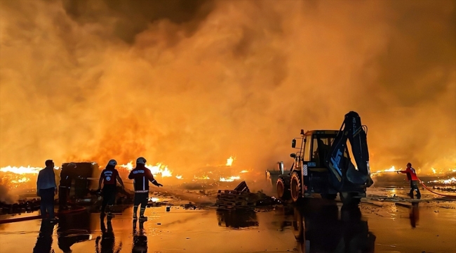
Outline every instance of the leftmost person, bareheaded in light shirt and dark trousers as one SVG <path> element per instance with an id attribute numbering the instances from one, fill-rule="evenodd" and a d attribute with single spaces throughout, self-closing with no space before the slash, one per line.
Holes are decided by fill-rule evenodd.
<path id="1" fill-rule="evenodd" d="M 40 209 L 41 218 L 48 219 L 55 222 L 54 219 L 54 195 L 57 194 L 57 185 L 55 184 L 54 162 L 53 160 L 46 160 L 46 168 L 41 169 L 36 179 L 36 195 L 41 198 Z"/>

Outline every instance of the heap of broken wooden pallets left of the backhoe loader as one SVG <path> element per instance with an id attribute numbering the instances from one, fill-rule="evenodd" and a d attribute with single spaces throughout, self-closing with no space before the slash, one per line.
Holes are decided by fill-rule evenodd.
<path id="1" fill-rule="evenodd" d="M 229 211 L 253 211 L 257 205 L 258 195 L 250 193 L 245 181 L 234 190 L 218 190 L 217 205 L 220 210 Z"/>

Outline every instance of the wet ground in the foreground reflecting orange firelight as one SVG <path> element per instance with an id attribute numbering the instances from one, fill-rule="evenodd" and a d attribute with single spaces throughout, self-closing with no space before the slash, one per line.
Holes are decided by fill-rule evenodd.
<path id="1" fill-rule="evenodd" d="M 0 225 L 0 252 L 455 252 L 456 203 L 429 193 L 411 202 L 406 190 L 372 189 L 355 208 L 322 200 L 241 214 L 150 207 L 135 226 L 131 207 L 111 221 L 88 212 L 55 226 L 20 221 Z"/>

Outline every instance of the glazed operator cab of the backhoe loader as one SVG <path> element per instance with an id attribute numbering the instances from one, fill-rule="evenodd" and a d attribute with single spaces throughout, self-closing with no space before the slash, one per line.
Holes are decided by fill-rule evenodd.
<path id="1" fill-rule="evenodd" d="M 337 136 L 335 130 L 312 130 L 304 133 L 301 130 L 301 138 L 294 138 L 291 147 L 297 148 L 297 140 L 301 142 L 299 151 L 290 157 L 295 159 L 295 169 L 301 169 L 302 165 L 307 164 L 311 168 L 325 168 L 325 157 L 330 152 L 331 145 Z"/>

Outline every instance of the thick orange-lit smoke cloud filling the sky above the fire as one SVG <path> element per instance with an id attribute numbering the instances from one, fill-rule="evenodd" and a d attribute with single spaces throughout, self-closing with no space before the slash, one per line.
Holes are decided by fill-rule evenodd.
<path id="1" fill-rule="evenodd" d="M 455 167 L 455 1 L 1 1 L 0 165 L 288 161 L 367 124 L 371 167 Z"/>

